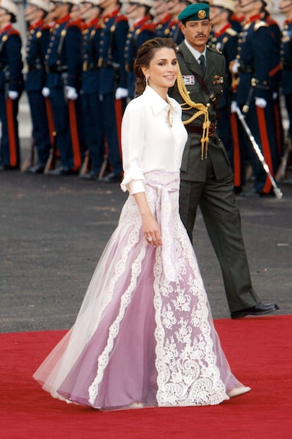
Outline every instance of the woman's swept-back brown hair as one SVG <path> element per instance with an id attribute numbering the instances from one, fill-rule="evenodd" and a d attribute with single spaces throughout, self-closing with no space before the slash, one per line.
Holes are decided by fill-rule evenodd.
<path id="1" fill-rule="evenodd" d="M 146 87 L 145 76 L 142 72 L 142 67 L 148 67 L 154 57 L 154 53 L 159 49 L 174 49 L 176 52 L 176 45 L 172 38 L 152 38 L 152 40 L 145 41 L 138 50 L 137 57 L 134 62 L 134 72 L 137 78 L 135 94 L 141 95 Z"/>

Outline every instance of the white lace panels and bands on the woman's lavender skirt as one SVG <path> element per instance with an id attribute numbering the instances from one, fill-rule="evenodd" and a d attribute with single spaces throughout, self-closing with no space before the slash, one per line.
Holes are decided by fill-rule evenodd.
<path id="1" fill-rule="evenodd" d="M 154 265 L 154 309 L 157 403 L 159 406 L 219 404 L 228 399 L 212 341 L 212 321 L 207 295 L 197 267 L 193 247 L 178 215 L 178 172 L 148 172 L 147 199 L 162 230 L 162 247 L 156 249 Z M 128 252 L 139 240 L 140 215 L 135 200 L 130 197 L 121 214 L 119 227 L 130 226 L 128 249 L 123 252 L 119 269 L 113 276 L 108 300 L 123 270 L 129 268 Z M 129 230 L 129 229 L 128 229 Z M 141 271 L 145 246 L 131 261 L 131 279 L 121 295 L 116 320 L 109 328 L 107 346 L 98 358 L 97 375 L 89 388 L 90 404 L 95 404 L 99 384 L 109 362 L 119 326 L 130 303 Z M 107 301 L 107 303 L 109 303 Z M 104 306 L 107 306 L 104 303 Z"/>

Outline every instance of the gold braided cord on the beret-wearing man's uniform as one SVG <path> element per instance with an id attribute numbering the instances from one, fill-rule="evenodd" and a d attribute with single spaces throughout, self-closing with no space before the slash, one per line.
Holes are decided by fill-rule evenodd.
<path id="1" fill-rule="evenodd" d="M 197 112 L 195 112 L 193 116 L 191 116 L 187 120 L 184 120 L 183 124 L 184 125 L 190 124 L 190 122 L 193 122 L 193 120 L 197 119 L 197 117 L 204 116 L 204 122 L 202 124 L 202 137 L 201 137 L 201 149 L 202 149 L 201 158 L 203 160 L 204 150 L 205 150 L 205 158 L 207 157 L 208 142 L 209 142 L 210 121 L 209 121 L 208 106 L 201 103 L 195 103 L 193 102 L 193 100 L 190 99 L 190 95 L 188 94 L 188 90 L 185 87 L 185 82 L 183 81 L 183 76 L 181 74 L 181 69 L 179 68 L 179 65 L 178 65 L 178 74 L 177 74 L 176 83 L 178 86 L 178 92 L 181 95 L 181 98 L 183 98 L 184 100 L 184 103 L 181 104 L 182 110 L 187 111 L 187 110 L 191 110 L 192 108 L 197 110 Z"/>

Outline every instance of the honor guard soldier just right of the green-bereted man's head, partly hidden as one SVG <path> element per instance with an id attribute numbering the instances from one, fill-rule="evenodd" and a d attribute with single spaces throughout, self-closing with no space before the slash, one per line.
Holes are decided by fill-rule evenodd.
<path id="1" fill-rule="evenodd" d="M 231 165 L 233 163 L 233 141 L 231 136 L 230 119 L 232 88 L 229 64 L 236 57 L 238 45 L 238 34 L 236 30 L 231 27 L 231 23 L 229 21 L 233 8 L 233 0 L 212 1 L 212 5 L 210 6 L 212 30 L 209 41 L 209 45 L 211 45 L 213 49 L 218 49 L 222 54 L 224 54 L 226 61 L 226 81 L 219 103 L 217 129 L 219 137 L 226 148 Z"/>

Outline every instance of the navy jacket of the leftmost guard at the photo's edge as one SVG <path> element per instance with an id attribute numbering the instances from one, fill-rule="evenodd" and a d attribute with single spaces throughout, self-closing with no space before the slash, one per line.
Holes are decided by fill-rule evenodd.
<path id="1" fill-rule="evenodd" d="M 9 23 L 0 33 L 0 90 L 21 93 L 23 90 L 23 61 L 21 58 L 21 38 L 18 30 Z"/>

